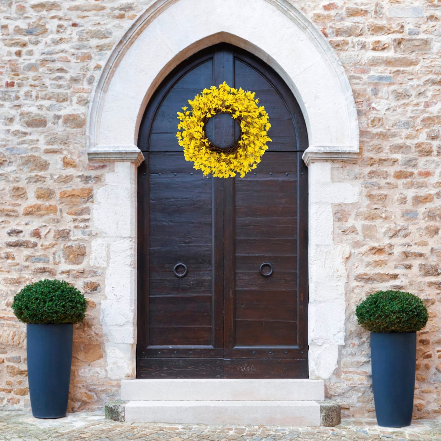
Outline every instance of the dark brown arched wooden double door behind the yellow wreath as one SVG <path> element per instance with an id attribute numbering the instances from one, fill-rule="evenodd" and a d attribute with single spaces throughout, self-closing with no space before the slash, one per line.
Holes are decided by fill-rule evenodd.
<path id="1" fill-rule="evenodd" d="M 244 178 L 203 177 L 176 141 L 176 112 L 224 81 L 256 92 L 272 124 Z M 219 115 L 206 133 L 227 147 L 240 129 Z M 157 89 L 138 142 L 138 378 L 308 377 L 307 145 L 292 92 L 234 46 L 199 52 Z"/>

